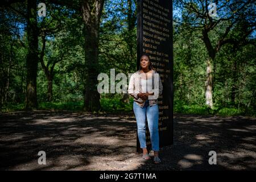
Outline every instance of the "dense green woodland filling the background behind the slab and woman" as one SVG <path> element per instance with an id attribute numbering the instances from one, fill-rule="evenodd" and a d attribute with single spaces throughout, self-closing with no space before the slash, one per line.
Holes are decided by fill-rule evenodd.
<path id="1" fill-rule="evenodd" d="M 174 112 L 255 115 L 255 1 L 174 0 L 173 9 Z M 136 39 L 136 0 L 1 1 L 0 110 L 131 111 L 127 94 L 96 85 L 112 68 L 136 71 Z"/>

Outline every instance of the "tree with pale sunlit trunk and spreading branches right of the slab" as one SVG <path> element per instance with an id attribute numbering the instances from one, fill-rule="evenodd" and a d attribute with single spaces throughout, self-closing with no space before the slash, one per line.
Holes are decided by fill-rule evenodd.
<path id="1" fill-rule="evenodd" d="M 192 27 L 193 31 L 199 31 L 201 39 L 208 51 L 207 77 L 205 81 L 205 103 L 210 108 L 213 108 L 213 86 L 214 72 L 216 69 L 216 54 L 225 44 L 239 44 L 244 42 L 246 38 L 255 30 L 255 21 L 251 20 L 254 17 L 255 10 L 253 9 L 253 1 L 175 1 L 177 7 L 184 10 L 183 22 L 177 23 L 187 24 Z M 210 3 L 215 3 L 217 17 L 209 13 L 208 6 Z M 243 23 L 242 23 L 243 22 Z M 239 38 L 234 38 L 230 33 L 233 28 L 240 24 L 243 26 L 242 34 Z M 217 38 L 210 38 L 212 31 L 217 31 L 224 26 L 225 31 L 220 32 Z"/>

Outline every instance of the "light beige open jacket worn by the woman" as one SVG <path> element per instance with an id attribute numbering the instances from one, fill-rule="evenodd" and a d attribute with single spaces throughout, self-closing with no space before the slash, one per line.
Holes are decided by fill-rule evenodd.
<path id="1" fill-rule="evenodd" d="M 148 93 L 154 93 L 154 95 L 148 96 L 150 106 L 158 104 L 158 97 L 163 92 L 163 85 L 159 74 L 154 70 L 152 70 L 152 73 L 152 86 L 150 90 L 147 90 Z M 143 107 L 145 100 L 138 98 L 138 93 L 142 90 L 140 75 L 140 70 L 131 75 L 127 92 L 130 94 L 130 96 L 133 96 L 133 100 L 136 104 Z"/>

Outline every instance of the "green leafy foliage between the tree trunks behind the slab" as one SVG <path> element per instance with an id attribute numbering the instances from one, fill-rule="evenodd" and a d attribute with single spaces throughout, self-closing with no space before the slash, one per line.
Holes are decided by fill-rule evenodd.
<path id="1" fill-rule="evenodd" d="M 48 2 L 48 1 L 47 1 Z M 100 24 L 100 73 L 133 73 L 137 61 L 136 1 L 129 11 L 128 1 L 105 1 Z M 189 1 L 188 1 L 189 2 Z M 255 115 L 256 113 L 256 52 L 255 31 L 246 38 L 246 44 L 225 44 L 214 59 L 214 107 L 205 106 L 205 78 L 208 51 L 201 37 L 195 9 L 201 3 L 193 1 L 192 9 L 185 11 L 180 1 L 179 18 L 174 22 L 174 112 L 184 114 Z M 230 1 L 228 2 L 231 3 Z M 26 3 L 12 5 L 26 13 Z M 232 5 L 233 6 L 233 5 Z M 228 9 L 227 7 L 224 7 Z M 37 96 L 39 109 L 82 110 L 86 78 L 85 27 L 80 12 L 72 6 L 47 5 L 47 16 L 38 19 L 39 54 L 42 51 L 42 33 L 46 36 L 44 64 L 53 68 L 52 101 L 47 101 L 47 74 L 38 64 Z M 228 12 L 228 11 L 226 11 Z M 247 12 L 248 13 L 248 12 Z M 192 16 L 187 16 L 192 14 Z M 177 14 L 175 14 L 177 16 Z M 181 23 L 177 24 L 176 20 Z M 208 20 L 207 20 L 208 21 Z M 207 22 L 206 21 L 206 22 Z M 204 21 L 202 21 L 204 22 Z M 190 24 L 188 26 L 188 24 Z M 193 24 L 194 23 L 194 24 Z M 209 31 L 210 42 L 215 45 L 230 22 L 220 22 Z M 245 34 L 246 19 L 230 29 L 227 38 L 238 40 Z M 26 18 L 6 7 L 0 11 L 0 109 L 21 110 L 26 94 L 26 55 L 28 52 Z M 63 56 L 61 61 L 58 60 Z M 54 65 L 54 66 L 53 66 Z M 122 102 L 120 94 L 102 94 L 101 111 L 132 111 L 130 104 Z"/>

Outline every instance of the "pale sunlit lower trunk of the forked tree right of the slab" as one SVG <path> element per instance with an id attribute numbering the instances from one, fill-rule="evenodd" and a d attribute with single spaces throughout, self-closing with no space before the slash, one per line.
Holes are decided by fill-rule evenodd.
<path id="1" fill-rule="evenodd" d="M 205 104 L 213 109 L 213 98 L 212 98 L 212 66 L 211 66 L 211 59 L 207 60 L 207 81 L 205 81 Z"/>

